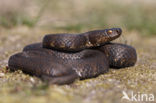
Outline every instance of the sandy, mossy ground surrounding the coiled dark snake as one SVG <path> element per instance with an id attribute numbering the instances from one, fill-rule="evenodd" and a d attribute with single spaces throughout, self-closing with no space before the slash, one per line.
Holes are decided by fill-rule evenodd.
<path id="1" fill-rule="evenodd" d="M 136 32 L 124 32 L 117 40 L 136 48 L 138 60 L 134 67 L 110 69 L 106 74 L 71 85 L 48 86 L 36 77 L 21 71 L 11 73 L 5 68 L 9 56 L 27 44 L 41 41 L 44 34 L 56 32 L 64 31 L 25 27 L 0 30 L 0 103 L 131 103 L 121 100 L 123 91 L 129 97 L 132 92 L 137 97 L 143 93 L 156 96 L 156 37 L 142 37 Z M 140 103 L 143 102 L 146 103 L 145 98 Z"/>

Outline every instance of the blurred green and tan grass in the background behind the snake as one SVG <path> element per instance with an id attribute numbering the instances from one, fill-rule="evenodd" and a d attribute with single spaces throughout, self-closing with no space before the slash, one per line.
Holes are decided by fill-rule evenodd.
<path id="1" fill-rule="evenodd" d="M 142 1 L 128 4 L 106 0 L 98 0 L 97 2 L 86 0 L 78 3 L 72 0 L 38 1 L 35 5 L 39 7 L 39 11 L 35 17 L 21 11 L 13 11 L 9 15 L 3 13 L 0 16 L 0 26 L 5 28 L 21 25 L 35 27 L 38 26 L 38 22 L 47 21 L 41 26 L 67 31 L 121 27 L 129 31 L 138 31 L 142 35 L 156 35 L 156 7 L 154 3 L 146 4 Z M 56 23 L 43 19 L 47 16 L 57 18 Z M 57 23 L 60 20 L 61 24 Z"/>

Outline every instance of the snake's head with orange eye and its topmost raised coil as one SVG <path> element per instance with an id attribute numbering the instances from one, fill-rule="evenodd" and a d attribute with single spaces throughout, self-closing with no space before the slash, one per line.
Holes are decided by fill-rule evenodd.
<path id="1" fill-rule="evenodd" d="M 111 31 L 111 32 L 110 32 Z M 89 31 L 81 34 L 49 34 L 43 38 L 43 47 L 62 51 L 80 51 L 97 47 L 118 38 L 120 28 Z"/>

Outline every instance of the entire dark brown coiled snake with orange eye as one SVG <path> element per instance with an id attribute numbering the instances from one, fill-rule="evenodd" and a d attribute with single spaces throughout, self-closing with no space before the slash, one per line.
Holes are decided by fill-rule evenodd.
<path id="1" fill-rule="evenodd" d="M 46 35 L 43 43 L 28 45 L 23 52 L 11 56 L 9 68 L 21 69 L 50 83 L 67 84 L 76 78 L 103 74 L 109 67 L 133 66 L 137 59 L 133 47 L 108 43 L 120 35 L 118 28 L 76 35 Z"/>

